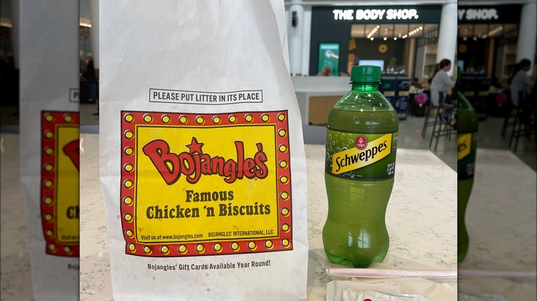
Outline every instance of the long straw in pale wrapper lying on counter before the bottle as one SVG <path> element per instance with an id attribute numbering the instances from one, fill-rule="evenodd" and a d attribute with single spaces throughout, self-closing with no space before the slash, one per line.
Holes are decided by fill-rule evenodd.
<path id="1" fill-rule="evenodd" d="M 326 274 L 362 278 L 451 278 L 457 276 L 457 271 L 332 268 L 326 269 Z"/>

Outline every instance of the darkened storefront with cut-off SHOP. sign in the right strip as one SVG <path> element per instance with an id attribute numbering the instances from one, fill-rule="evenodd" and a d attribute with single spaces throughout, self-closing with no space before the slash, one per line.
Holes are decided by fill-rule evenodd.
<path id="1" fill-rule="evenodd" d="M 481 120 L 503 116 L 509 99 L 508 78 L 525 47 L 520 36 L 523 6 L 459 5 L 457 64 L 461 67 L 461 91 L 474 105 Z M 534 55 L 526 57 L 535 62 Z M 507 102 L 508 103 L 508 102 Z"/>

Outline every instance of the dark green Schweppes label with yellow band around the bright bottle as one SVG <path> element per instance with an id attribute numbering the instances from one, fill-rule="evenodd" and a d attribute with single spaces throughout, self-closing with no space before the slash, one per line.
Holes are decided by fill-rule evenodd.
<path id="1" fill-rule="evenodd" d="M 328 174 L 372 181 L 394 177 L 397 133 L 360 134 L 328 130 L 327 135 Z"/>

